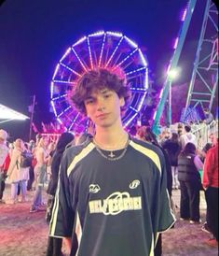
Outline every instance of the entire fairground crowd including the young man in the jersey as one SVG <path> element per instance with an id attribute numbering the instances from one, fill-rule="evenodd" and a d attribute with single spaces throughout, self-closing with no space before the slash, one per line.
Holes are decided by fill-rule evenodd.
<path id="1" fill-rule="evenodd" d="M 201 221 L 204 190 L 203 230 L 212 234 L 208 245 L 218 246 L 218 134 L 203 149 L 187 124 L 183 132 L 159 136 L 136 126 L 128 135 L 121 121 L 130 98 L 125 82 L 104 69 L 79 79 L 74 104 L 95 124 L 86 134 L 63 133 L 57 141 L 37 135 L 29 143 L 18 138 L 8 147 L 0 130 L 0 203 L 25 202 L 27 190 L 34 191 L 30 213 L 46 210 L 47 255 L 62 255 L 62 238 L 70 255 L 161 255 L 161 233 L 175 222 L 172 190 L 181 192 L 180 220 L 191 224 Z"/>

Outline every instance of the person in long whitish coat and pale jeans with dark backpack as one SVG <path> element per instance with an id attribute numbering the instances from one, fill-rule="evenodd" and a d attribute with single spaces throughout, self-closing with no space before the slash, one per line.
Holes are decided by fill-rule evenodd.
<path id="1" fill-rule="evenodd" d="M 11 183 L 11 198 L 8 204 L 18 202 L 18 187 L 21 186 L 21 200 L 26 202 L 27 180 L 29 179 L 29 167 L 25 163 L 26 149 L 21 138 L 15 140 L 14 149 L 11 154 L 10 165 L 7 170 L 8 181 Z"/>

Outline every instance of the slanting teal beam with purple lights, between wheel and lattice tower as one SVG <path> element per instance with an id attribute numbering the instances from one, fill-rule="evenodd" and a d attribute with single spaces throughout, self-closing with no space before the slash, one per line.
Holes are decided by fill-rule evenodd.
<path id="1" fill-rule="evenodd" d="M 181 51 L 183 49 L 183 46 L 184 46 L 184 43 L 185 43 L 185 36 L 187 34 L 190 21 L 192 19 L 192 15 L 193 15 L 194 8 L 196 6 L 196 2 L 197 2 L 197 0 L 190 0 L 189 1 L 188 7 L 187 7 L 187 13 L 186 13 L 186 16 L 185 16 L 184 25 L 182 27 L 181 35 L 179 36 L 178 45 L 177 45 L 176 49 L 174 50 L 169 70 L 172 70 L 172 69 L 176 68 L 176 66 L 178 64 L 178 61 L 179 61 L 179 58 L 180 58 L 180 53 L 181 53 Z M 156 135 L 159 133 L 159 120 L 161 118 L 161 115 L 162 115 L 163 109 L 165 107 L 167 98 L 168 98 L 168 96 L 170 96 L 170 94 L 169 94 L 170 89 L 171 89 L 171 78 L 169 78 L 167 76 L 167 78 L 165 80 L 165 83 L 164 83 L 162 93 L 160 95 L 160 102 L 159 102 L 159 105 L 157 107 L 157 111 L 155 113 L 155 119 L 154 119 L 154 124 L 153 124 L 153 132 Z M 171 98 L 169 99 L 169 101 L 170 100 L 171 100 Z M 171 108 L 171 103 L 169 103 L 169 104 L 170 104 L 170 108 Z"/>

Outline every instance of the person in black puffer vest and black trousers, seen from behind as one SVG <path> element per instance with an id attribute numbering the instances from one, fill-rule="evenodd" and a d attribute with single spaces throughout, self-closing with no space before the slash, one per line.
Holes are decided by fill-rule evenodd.
<path id="1" fill-rule="evenodd" d="M 191 224 L 200 222 L 200 169 L 203 169 L 203 163 L 196 153 L 196 146 L 188 142 L 178 157 L 178 178 L 181 191 L 180 217 L 181 220 L 190 220 Z"/>

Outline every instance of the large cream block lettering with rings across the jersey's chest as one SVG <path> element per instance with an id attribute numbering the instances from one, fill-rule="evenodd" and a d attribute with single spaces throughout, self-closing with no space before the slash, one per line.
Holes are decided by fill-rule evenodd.
<path id="1" fill-rule="evenodd" d="M 142 209 L 141 196 L 130 197 L 129 192 L 114 192 L 104 200 L 89 201 L 89 213 L 117 215 L 122 211 Z"/>

